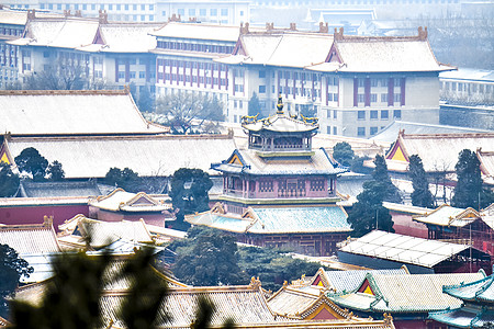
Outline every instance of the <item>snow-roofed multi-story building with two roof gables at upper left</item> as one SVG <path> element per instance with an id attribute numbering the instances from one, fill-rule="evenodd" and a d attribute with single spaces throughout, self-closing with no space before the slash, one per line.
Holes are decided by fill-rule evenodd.
<path id="1" fill-rule="evenodd" d="M 149 49 L 156 47 L 156 38 L 149 33 L 161 24 L 109 23 L 104 12 L 99 19 L 37 14 L 30 11 L 22 36 L 9 42 L 22 48 L 18 56 L 21 79 L 55 69 L 106 88 L 134 83 L 154 90 L 155 57 Z"/>

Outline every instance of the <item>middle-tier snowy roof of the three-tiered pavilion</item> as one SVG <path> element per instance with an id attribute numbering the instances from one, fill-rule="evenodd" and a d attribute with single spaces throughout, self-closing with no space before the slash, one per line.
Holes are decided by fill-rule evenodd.
<path id="1" fill-rule="evenodd" d="M 338 166 L 325 149 L 316 149 L 308 157 L 262 158 L 254 149 L 237 149 L 243 164 L 213 163 L 212 168 L 225 172 L 244 172 L 251 174 L 336 174 L 347 171 Z M 295 152 L 294 152 L 295 154 Z"/>

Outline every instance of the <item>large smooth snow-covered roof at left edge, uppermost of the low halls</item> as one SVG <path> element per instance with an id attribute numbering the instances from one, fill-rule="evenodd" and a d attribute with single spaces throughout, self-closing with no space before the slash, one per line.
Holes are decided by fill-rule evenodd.
<path id="1" fill-rule="evenodd" d="M 0 133 L 12 135 L 157 134 L 127 91 L 0 91 Z"/>

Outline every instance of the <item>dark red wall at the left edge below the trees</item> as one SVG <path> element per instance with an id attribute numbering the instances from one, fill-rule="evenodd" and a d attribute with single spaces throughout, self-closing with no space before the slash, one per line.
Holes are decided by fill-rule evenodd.
<path id="1" fill-rule="evenodd" d="M 49 206 L 12 206 L 0 208 L 0 224 L 41 224 L 44 216 L 53 216 L 53 226 L 58 225 L 77 214 L 89 216 L 88 205 L 49 205 Z"/>

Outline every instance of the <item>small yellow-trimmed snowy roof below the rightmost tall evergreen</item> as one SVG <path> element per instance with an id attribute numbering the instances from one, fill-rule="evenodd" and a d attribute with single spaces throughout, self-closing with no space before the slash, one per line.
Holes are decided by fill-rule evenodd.
<path id="1" fill-rule="evenodd" d="M 414 220 L 424 224 L 453 227 L 464 227 L 479 218 L 481 218 L 481 214 L 479 214 L 479 212 L 474 208 L 456 208 L 448 204 L 440 205 L 437 209 L 434 209 L 429 214 L 414 216 Z"/>

